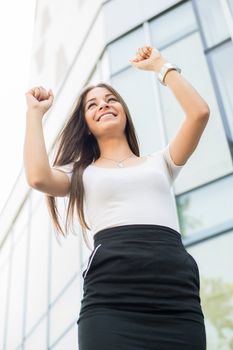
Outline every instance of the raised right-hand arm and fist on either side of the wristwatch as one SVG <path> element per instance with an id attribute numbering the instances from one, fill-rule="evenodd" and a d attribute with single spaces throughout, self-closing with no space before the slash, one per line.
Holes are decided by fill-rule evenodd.
<path id="1" fill-rule="evenodd" d="M 136 68 L 160 71 L 168 62 L 159 51 L 144 47 L 131 60 Z M 175 137 L 169 142 L 170 155 L 176 165 L 183 165 L 196 149 L 209 119 L 209 106 L 192 85 L 176 70 L 170 70 L 164 79 L 181 105 L 185 119 Z"/>

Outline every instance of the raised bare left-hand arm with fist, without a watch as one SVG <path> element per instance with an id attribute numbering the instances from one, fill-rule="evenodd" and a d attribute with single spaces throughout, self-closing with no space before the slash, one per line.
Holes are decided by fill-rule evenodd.
<path id="1" fill-rule="evenodd" d="M 52 196 L 65 196 L 70 187 L 66 174 L 52 169 L 46 151 L 42 120 L 53 102 L 52 91 L 40 87 L 26 93 L 24 170 L 30 187 Z"/>

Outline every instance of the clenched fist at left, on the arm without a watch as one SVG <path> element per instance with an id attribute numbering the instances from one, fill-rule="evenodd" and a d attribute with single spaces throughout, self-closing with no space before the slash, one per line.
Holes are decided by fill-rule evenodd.
<path id="1" fill-rule="evenodd" d="M 37 109 L 43 114 L 52 106 L 54 99 L 52 90 L 47 91 L 42 86 L 30 89 L 25 95 L 28 109 Z"/>

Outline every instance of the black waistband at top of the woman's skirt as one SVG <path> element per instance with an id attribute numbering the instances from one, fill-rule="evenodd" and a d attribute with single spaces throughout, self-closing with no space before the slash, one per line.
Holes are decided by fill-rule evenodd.
<path id="1" fill-rule="evenodd" d="M 168 226 L 155 224 L 132 224 L 109 227 L 98 231 L 93 239 L 95 247 L 103 241 L 116 242 L 124 239 L 182 243 L 181 234 L 178 231 Z"/>

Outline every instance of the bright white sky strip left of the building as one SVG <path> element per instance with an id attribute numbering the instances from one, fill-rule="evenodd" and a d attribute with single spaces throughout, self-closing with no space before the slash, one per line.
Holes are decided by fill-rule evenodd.
<path id="1" fill-rule="evenodd" d="M 36 0 L 0 4 L 0 213 L 23 166 Z"/>

